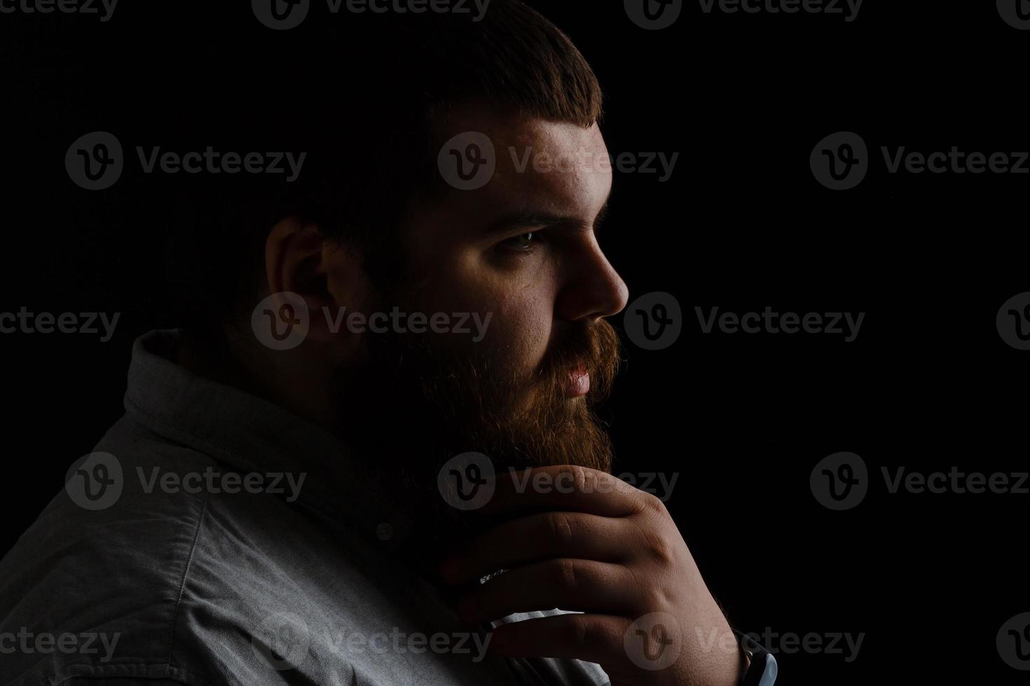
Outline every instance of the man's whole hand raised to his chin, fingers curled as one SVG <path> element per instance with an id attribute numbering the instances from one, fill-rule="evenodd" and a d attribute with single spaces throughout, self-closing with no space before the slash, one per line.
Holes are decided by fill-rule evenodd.
<path id="1" fill-rule="evenodd" d="M 508 518 L 445 559 L 441 575 L 456 584 L 507 571 L 461 598 L 465 621 L 553 608 L 584 613 L 499 626 L 494 652 L 597 662 L 612 686 L 740 683 L 736 639 L 656 497 L 562 465 L 500 475 L 476 511 Z"/>

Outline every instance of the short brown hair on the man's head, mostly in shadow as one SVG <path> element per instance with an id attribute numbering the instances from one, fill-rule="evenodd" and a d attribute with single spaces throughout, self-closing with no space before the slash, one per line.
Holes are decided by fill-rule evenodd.
<path id="1" fill-rule="evenodd" d="M 185 106 L 170 123 L 185 149 L 213 138 L 225 150 L 307 153 L 293 182 L 199 174 L 172 191 L 173 300 L 177 323 L 196 327 L 249 318 L 265 238 L 283 217 L 366 252 L 388 246 L 414 198 L 445 190 L 437 123 L 460 103 L 582 127 L 602 116 L 586 60 L 518 0 L 492 0 L 479 21 L 312 8 L 301 27 L 237 36 L 181 76 Z"/>

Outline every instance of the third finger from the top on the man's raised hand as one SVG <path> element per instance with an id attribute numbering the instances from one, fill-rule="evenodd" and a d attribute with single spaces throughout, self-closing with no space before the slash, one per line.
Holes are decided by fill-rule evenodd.
<path id="1" fill-rule="evenodd" d="M 457 610 L 469 624 L 554 608 L 632 614 L 645 602 L 644 594 L 621 565 L 561 557 L 493 577 L 466 594 Z"/>

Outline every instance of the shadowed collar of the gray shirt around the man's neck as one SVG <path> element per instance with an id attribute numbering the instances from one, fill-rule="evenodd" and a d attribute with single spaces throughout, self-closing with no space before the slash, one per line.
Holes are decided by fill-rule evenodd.
<path id="1" fill-rule="evenodd" d="M 133 344 L 125 396 L 130 419 L 238 472 L 305 474 L 298 502 L 383 547 L 410 542 L 413 514 L 342 441 L 272 402 L 177 364 L 181 339 L 181 330 L 163 329 Z"/>

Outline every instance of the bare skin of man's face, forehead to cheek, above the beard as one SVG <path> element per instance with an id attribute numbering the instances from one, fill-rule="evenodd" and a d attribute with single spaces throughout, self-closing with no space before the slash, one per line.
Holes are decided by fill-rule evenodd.
<path id="1" fill-rule="evenodd" d="M 449 129 L 485 133 L 496 171 L 484 187 L 413 214 L 411 269 L 423 306 L 492 313 L 490 345 L 528 376 L 571 328 L 625 306 L 625 284 L 593 231 L 612 187 L 597 163 L 608 149 L 596 125 L 466 110 Z"/>

